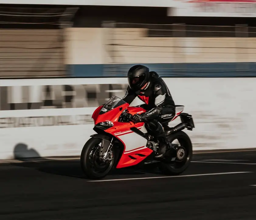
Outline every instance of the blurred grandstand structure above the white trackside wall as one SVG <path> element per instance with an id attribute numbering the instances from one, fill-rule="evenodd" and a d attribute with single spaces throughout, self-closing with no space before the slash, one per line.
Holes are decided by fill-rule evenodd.
<path id="1" fill-rule="evenodd" d="M 255 73 L 253 3 L 173 0 L 162 1 L 169 7 L 135 7 L 118 1 L 109 3 L 117 6 L 26 1 L 1 4 L 2 78 L 125 77 L 136 63 L 163 77 Z"/>

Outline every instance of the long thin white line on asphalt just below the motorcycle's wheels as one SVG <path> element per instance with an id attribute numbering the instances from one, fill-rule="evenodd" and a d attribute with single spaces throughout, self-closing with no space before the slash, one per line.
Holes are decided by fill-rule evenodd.
<path id="1" fill-rule="evenodd" d="M 161 178 L 177 178 L 177 177 L 197 177 L 197 176 L 210 176 L 222 174 L 244 174 L 253 172 L 228 172 L 228 173 L 213 173 L 213 174 L 192 174 L 183 176 L 164 176 L 164 177 L 141 177 L 141 178 L 127 178 L 127 179 L 110 179 L 110 180 L 88 180 L 87 182 L 108 182 L 108 181 L 121 181 L 121 180 L 147 180 L 147 179 L 161 179 Z"/>

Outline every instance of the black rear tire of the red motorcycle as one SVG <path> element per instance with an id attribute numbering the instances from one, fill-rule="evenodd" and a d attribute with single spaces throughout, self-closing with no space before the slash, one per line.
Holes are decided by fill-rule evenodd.
<path id="1" fill-rule="evenodd" d="M 183 131 L 179 131 L 168 136 L 167 138 L 170 143 L 172 143 L 175 139 L 178 139 L 179 143 L 183 147 L 183 150 L 185 150 L 185 156 L 182 160 L 176 159 L 174 162 L 160 162 L 159 170 L 166 175 L 179 175 L 188 168 L 190 161 L 192 160 L 192 143 L 189 136 Z"/>

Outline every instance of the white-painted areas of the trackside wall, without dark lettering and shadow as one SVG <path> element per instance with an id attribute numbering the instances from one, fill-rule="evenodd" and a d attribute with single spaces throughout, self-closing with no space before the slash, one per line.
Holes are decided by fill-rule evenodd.
<path id="1" fill-rule="evenodd" d="M 256 116 L 256 78 L 166 78 L 176 105 L 185 105 L 195 122 L 185 130 L 194 150 L 254 148 Z M 0 86 L 57 84 L 126 84 L 126 78 L 2 80 Z M 17 89 L 17 91 L 19 91 Z M 115 93 L 119 97 L 123 92 Z M 15 95 L 15 94 L 13 94 Z M 1 101 L 1 100 L 0 100 Z M 141 103 L 135 100 L 133 105 Z M 17 144 L 36 150 L 40 156 L 80 155 L 84 143 L 95 133 L 92 122 L 82 125 L 4 128 L 6 117 L 91 114 L 96 108 L 57 108 L 1 111 L 0 159 L 12 159 Z M 21 122 L 19 122 L 21 123 Z M 170 125 L 180 123 L 175 119 Z M 24 125 L 25 126 L 25 125 Z M 31 150 L 33 153 L 33 150 Z"/>

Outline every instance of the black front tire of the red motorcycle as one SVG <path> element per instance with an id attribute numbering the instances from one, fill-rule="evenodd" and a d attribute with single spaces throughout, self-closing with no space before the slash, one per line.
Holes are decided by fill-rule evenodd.
<path id="1" fill-rule="evenodd" d="M 92 137 L 84 145 L 81 156 L 80 165 L 84 174 L 89 179 L 102 179 L 108 175 L 114 164 L 114 153 L 112 154 L 113 160 L 100 160 L 99 150 L 102 139 Z"/>

